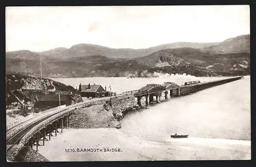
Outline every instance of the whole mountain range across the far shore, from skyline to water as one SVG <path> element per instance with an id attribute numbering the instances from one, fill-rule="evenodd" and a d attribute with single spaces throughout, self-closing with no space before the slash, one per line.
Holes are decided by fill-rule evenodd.
<path id="1" fill-rule="evenodd" d="M 45 77 L 127 76 L 143 71 L 196 76 L 250 74 L 250 35 L 223 42 L 175 42 L 145 49 L 77 44 L 42 52 L 6 52 L 6 73 Z"/>

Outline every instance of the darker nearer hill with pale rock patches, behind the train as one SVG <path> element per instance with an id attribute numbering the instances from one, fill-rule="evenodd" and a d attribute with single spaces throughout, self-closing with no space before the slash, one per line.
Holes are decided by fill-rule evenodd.
<path id="1" fill-rule="evenodd" d="M 179 67 L 202 67 L 214 73 L 250 73 L 250 53 L 208 53 L 200 49 L 177 48 L 160 50 L 142 58 L 136 59 L 138 63 L 153 69 Z M 187 71 L 189 72 L 189 71 Z M 185 72 L 186 73 L 186 72 Z M 190 71 L 190 73 L 193 73 Z"/>

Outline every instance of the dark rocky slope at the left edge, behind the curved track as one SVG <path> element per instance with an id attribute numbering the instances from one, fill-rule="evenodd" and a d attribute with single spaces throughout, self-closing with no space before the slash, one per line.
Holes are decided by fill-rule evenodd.
<path id="1" fill-rule="evenodd" d="M 19 74 L 6 75 L 6 107 L 7 109 L 33 109 L 40 97 L 48 94 L 66 96 L 66 105 L 82 101 L 79 94 L 71 86 L 66 86 L 60 82 L 48 78 L 30 77 Z M 58 96 L 57 101 L 58 101 Z M 56 101 L 56 99 L 54 99 Z"/>

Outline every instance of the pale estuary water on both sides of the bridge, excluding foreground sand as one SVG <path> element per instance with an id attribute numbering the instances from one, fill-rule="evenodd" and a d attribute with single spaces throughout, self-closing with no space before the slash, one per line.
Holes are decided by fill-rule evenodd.
<path id="1" fill-rule="evenodd" d="M 164 81 L 181 85 L 185 81 L 209 81 L 223 77 L 169 76 L 157 78 L 90 77 L 53 78 L 63 84 L 97 84 L 114 92 L 138 90 L 146 84 Z M 212 87 L 195 94 L 172 98 L 149 106 L 148 109 L 128 113 L 121 120 L 120 132 L 147 141 L 165 142 L 170 134 L 188 134 L 189 138 L 251 139 L 250 76 L 245 79 Z"/>

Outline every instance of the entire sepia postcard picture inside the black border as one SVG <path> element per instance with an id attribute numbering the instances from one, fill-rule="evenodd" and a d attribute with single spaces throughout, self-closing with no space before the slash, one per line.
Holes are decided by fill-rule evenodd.
<path id="1" fill-rule="evenodd" d="M 6 161 L 250 160 L 250 6 L 6 7 Z"/>

